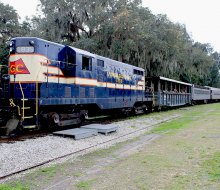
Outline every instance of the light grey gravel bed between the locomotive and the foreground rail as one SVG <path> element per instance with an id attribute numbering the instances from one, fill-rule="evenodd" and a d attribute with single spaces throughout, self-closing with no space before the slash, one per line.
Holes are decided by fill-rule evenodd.
<path id="1" fill-rule="evenodd" d="M 119 127 L 118 131 L 107 136 L 98 134 L 97 136 L 90 138 L 74 140 L 73 138 L 48 135 L 45 137 L 27 139 L 25 141 L 18 141 L 15 143 L 2 143 L 0 144 L 0 177 L 91 146 L 93 146 L 94 150 L 94 146 L 98 149 L 111 146 L 117 142 L 126 141 L 139 136 L 145 131 L 148 131 L 151 126 L 155 124 L 171 120 L 176 117 L 178 117 L 176 114 L 170 115 L 169 118 L 166 119 L 163 119 L 162 117 L 155 118 L 153 116 L 137 117 L 134 119 L 115 122 L 114 124 Z"/>

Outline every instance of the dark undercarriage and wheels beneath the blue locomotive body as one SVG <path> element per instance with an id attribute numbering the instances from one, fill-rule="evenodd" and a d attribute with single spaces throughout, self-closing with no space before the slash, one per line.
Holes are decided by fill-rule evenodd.
<path id="1" fill-rule="evenodd" d="M 23 130 L 63 129 L 82 124 L 88 117 L 100 115 L 129 116 L 149 111 L 150 103 L 138 102 L 133 107 L 101 110 L 96 104 L 41 106 L 33 100 L 4 100 L 0 109 L 0 136 L 14 135 Z"/>

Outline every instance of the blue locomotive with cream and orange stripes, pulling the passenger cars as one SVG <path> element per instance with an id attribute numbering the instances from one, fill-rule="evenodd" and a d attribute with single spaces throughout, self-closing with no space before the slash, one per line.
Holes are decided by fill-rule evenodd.
<path id="1" fill-rule="evenodd" d="M 144 69 L 39 38 L 10 42 L 8 73 L 1 76 L 0 125 L 67 126 L 88 115 L 140 112 Z"/>

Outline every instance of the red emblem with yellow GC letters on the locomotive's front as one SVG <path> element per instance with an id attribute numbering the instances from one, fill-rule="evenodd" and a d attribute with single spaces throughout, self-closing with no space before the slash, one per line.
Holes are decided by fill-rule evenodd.
<path id="1" fill-rule="evenodd" d="M 30 72 L 25 66 L 23 60 L 20 58 L 16 61 L 10 62 L 10 74 L 30 74 Z"/>

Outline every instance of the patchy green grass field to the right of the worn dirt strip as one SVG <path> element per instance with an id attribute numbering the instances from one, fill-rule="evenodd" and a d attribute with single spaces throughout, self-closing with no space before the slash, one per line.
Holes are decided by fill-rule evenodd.
<path id="1" fill-rule="evenodd" d="M 220 189 L 220 104 L 178 112 L 182 117 L 151 131 L 160 139 L 116 163 L 91 189 Z"/>

